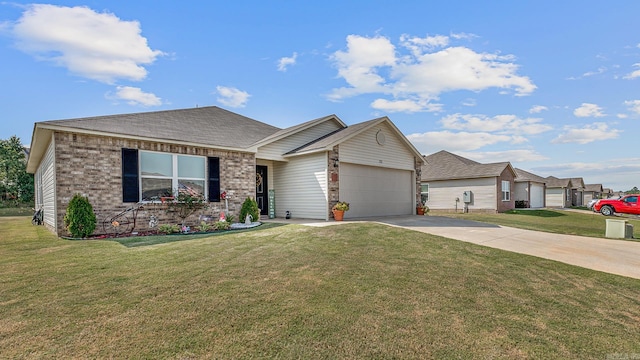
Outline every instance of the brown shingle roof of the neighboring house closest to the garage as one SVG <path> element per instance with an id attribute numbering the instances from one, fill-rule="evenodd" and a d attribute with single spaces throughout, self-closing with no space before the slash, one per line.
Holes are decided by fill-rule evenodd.
<path id="1" fill-rule="evenodd" d="M 500 176 L 508 162 L 481 164 L 442 150 L 426 156 L 422 166 L 422 181 L 472 179 Z"/>

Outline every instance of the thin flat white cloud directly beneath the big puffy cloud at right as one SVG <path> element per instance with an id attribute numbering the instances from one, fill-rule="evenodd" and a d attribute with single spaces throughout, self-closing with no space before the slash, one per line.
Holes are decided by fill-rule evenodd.
<path id="1" fill-rule="evenodd" d="M 453 114 L 442 118 L 440 123 L 445 129 L 498 132 L 501 134 L 536 135 L 552 129 L 552 126 L 542 124 L 542 119 L 520 119 L 515 115 L 487 117 L 485 115 Z"/>

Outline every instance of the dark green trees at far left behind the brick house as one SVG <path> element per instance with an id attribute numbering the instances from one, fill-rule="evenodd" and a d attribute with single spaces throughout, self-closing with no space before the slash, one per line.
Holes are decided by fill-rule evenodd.
<path id="1" fill-rule="evenodd" d="M 33 175 L 27 173 L 27 150 L 20 138 L 0 139 L 0 203 L 33 204 Z"/>

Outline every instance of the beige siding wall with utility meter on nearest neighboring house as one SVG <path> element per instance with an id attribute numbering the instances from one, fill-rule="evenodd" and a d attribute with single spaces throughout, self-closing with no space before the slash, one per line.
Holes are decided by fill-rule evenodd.
<path id="1" fill-rule="evenodd" d="M 429 201 L 427 206 L 434 210 L 462 210 L 465 206 L 462 193 L 473 194 L 469 210 L 497 210 L 496 178 L 460 179 L 429 181 Z"/>

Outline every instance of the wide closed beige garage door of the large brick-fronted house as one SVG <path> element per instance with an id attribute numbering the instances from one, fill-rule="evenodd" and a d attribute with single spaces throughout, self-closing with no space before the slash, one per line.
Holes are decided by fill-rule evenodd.
<path id="1" fill-rule="evenodd" d="M 345 219 L 413 214 L 412 174 L 408 170 L 340 163 L 340 200 L 350 205 Z"/>

